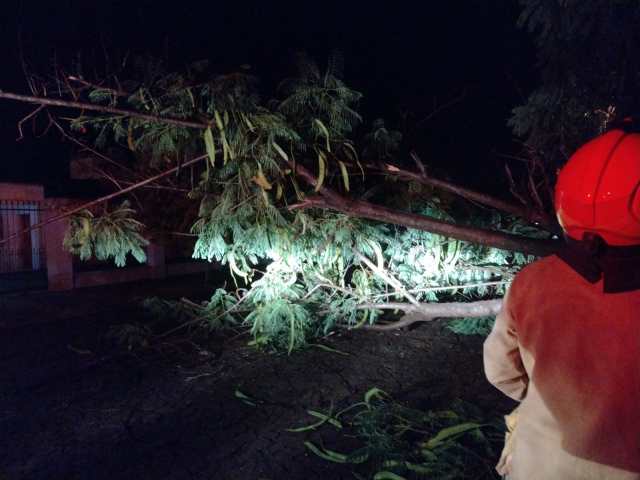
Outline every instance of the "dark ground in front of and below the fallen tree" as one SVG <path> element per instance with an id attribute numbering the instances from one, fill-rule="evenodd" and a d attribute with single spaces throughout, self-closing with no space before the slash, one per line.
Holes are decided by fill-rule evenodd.
<path id="1" fill-rule="evenodd" d="M 212 290 L 189 277 L 0 296 L 0 479 L 353 479 L 305 449 L 317 433 L 286 431 L 310 423 L 307 409 L 349 405 L 374 386 L 423 409 L 456 398 L 487 417 L 512 407 L 484 380 L 482 338 L 439 322 L 323 342 L 348 355 L 269 355 L 247 337 L 128 352 L 105 337 L 144 318 L 145 296 Z"/>

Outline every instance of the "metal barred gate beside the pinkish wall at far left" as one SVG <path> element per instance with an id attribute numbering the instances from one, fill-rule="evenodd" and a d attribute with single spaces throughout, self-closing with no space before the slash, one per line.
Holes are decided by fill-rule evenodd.
<path id="1" fill-rule="evenodd" d="M 29 201 L 0 201 L 0 293 L 46 288 L 46 252 L 42 229 L 21 233 L 42 219 L 42 205 Z M 44 280 L 44 284 L 43 284 Z"/>

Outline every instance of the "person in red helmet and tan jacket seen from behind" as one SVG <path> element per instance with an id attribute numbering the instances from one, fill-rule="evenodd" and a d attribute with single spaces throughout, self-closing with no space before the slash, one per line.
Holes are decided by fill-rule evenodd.
<path id="1" fill-rule="evenodd" d="M 566 243 L 516 275 L 484 343 L 488 380 L 521 402 L 506 478 L 640 479 L 640 134 L 625 130 L 562 168 Z"/>

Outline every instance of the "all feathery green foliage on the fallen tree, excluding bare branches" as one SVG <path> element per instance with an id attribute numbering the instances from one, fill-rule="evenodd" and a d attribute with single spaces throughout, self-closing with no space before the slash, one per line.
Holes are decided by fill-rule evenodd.
<path id="1" fill-rule="evenodd" d="M 201 326 L 244 326 L 253 344 L 291 352 L 335 328 L 375 323 L 383 311 L 378 305 L 406 301 L 407 295 L 421 302 L 499 296 L 530 260 L 428 232 L 290 208 L 322 186 L 353 196 L 378 186 L 381 179 L 369 179 L 360 158 L 396 161 L 401 147 L 402 135 L 383 120 L 358 137 L 362 95 L 341 78 L 337 54 L 324 71 L 299 56 L 298 75 L 282 82 L 277 98 L 268 102 L 258 94 L 255 78 L 243 72 L 214 75 L 206 62 L 179 73 L 149 59 L 134 67 L 143 74 L 138 81 L 121 82 L 133 86 L 128 95 L 99 88 L 89 100 L 208 126 L 199 130 L 114 115 L 81 116 L 73 126 L 93 132 L 98 146 L 120 144 L 150 169 L 206 156 L 193 167 L 187 198 L 199 204 L 191 229 L 197 235 L 193 257 L 228 266 L 235 288 L 220 289 L 211 301 L 186 310 L 180 305 L 181 315 Z M 297 165 L 317 172 L 315 186 L 298 182 Z M 413 213 L 497 230 L 520 228 L 511 218 L 471 210 L 420 186 L 409 192 L 392 182 L 388 186 L 385 198 Z M 97 252 L 102 238 L 82 236 L 84 225 L 91 233 L 95 222 L 78 217 L 71 229 L 68 244 L 85 258 Z M 121 223 L 123 244 L 114 246 L 108 237 L 109 250 L 100 247 L 100 252 L 120 252 L 119 260 L 122 249 L 138 238 L 131 231 L 139 226 L 127 224 L 127 230 Z"/>

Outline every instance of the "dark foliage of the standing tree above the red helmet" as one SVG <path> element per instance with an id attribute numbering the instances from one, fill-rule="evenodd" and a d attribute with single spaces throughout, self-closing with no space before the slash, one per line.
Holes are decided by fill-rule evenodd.
<path id="1" fill-rule="evenodd" d="M 542 81 L 513 110 L 509 124 L 555 168 L 602 131 L 615 110 L 636 113 L 640 5 L 628 0 L 520 4 L 519 24 L 535 39 Z"/>

